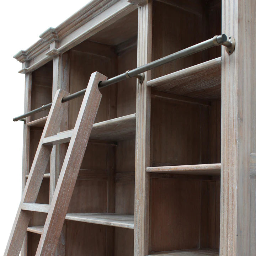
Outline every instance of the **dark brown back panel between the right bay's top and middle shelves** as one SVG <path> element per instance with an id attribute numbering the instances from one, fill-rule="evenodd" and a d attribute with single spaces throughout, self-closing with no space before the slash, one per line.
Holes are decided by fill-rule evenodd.
<path id="1" fill-rule="evenodd" d="M 151 101 L 153 166 L 207 164 L 209 108 L 165 98 Z"/>

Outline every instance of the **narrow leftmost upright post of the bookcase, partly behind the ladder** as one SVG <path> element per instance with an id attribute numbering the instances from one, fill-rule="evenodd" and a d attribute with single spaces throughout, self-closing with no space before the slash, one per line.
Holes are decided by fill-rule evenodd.
<path id="1" fill-rule="evenodd" d="M 31 88 L 32 74 L 25 75 L 25 98 L 24 98 L 24 113 L 31 111 Z M 30 117 L 26 118 L 26 123 L 23 127 L 23 155 L 22 155 L 22 193 L 26 185 L 26 175 L 29 173 L 29 153 L 30 153 L 30 127 L 27 123 L 30 122 Z M 21 248 L 21 256 L 27 256 L 27 234 Z"/>

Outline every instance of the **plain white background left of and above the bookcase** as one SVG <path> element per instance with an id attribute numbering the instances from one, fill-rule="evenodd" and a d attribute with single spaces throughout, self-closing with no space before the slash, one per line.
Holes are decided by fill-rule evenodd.
<path id="1" fill-rule="evenodd" d="M 12 58 L 39 40 L 39 34 L 57 27 L 89 0 L 1 2 L 1 94 L 0 94 L 0 255 L 5 246 L 21 199 L 23 122 L 12 118 L 23 114 L 25 75 L 21 63 Z"/>

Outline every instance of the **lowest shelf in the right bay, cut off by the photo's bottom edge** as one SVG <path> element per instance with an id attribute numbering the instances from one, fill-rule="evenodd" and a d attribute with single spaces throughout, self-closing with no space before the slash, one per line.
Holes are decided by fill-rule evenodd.
<path id="1" fill-rule="evenodd" d="M 217 249 L 193 249 L 180 251 L 154 252 L 149 256 L 219 256 Z"/>

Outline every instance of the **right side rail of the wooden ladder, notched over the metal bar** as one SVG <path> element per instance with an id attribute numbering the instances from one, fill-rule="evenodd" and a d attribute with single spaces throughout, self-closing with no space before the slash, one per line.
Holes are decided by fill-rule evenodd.
<path id="1" fill-rule="evenodd" d="M 50 210 L 44 224 L 36 256 L 53 255 L 68 211 L 69 202 L 75 187 L 76 178 L 84 157 L 91 129 L 101 101 L 98 82 L 106 80 L 106 76 L 98 72 L 92 73 L 73 136 L 63 162 L 62 170 L 54 191 Z M 86 131 L 86 135 L 84 135 Z M 49 246 L 50 245 L 50 246 Z"/>

